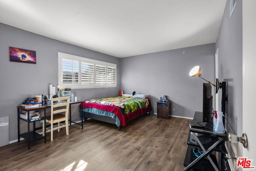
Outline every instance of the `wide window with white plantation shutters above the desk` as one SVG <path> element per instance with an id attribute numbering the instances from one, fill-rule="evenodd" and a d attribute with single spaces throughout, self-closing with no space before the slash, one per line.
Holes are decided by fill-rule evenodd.
<path id="1" fill-rule="evenodd" d="M 58 52 L 60 87 L 116 87 L 116 64 Z"/>

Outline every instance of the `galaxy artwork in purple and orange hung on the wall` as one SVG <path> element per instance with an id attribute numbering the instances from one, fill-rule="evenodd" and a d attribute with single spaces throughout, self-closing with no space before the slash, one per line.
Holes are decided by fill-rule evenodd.
<path id="1" fill-rule="evenodd" d="M 10 61 L 36 64 L 36 51 L 9 47 Z"/>

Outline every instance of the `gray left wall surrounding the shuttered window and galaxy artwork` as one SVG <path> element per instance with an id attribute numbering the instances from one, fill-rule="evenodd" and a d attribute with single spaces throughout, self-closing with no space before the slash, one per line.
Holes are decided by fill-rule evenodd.
<path id="1" fill-rule="evenodd" d="M 9 46 L 36 51 L 36 64 L 10 62 Z M 17 105 L 26 97 L 46 95 L 49 93 L 49 84 L 58 84 L 57 59 L 58 52 L 82 56 L 117 64 L 120 70 L 120 58 L 101 54 L 85 48 L 46 38 L 38 34 L 27 32 L 0 23 L 0 117 L 10 117 L 10 141 L 17 139 Z M 73 89 L 72 93 L 78 100 L 110 97 L 118 95 L 120 89 L 120 73 L 117 72 L 117 87 L 96 89 Z M 75 110 L 73 119 L 77 120 L 78 110 Z M 26 131 L 26 123 L 21 121 L 21 131 Z"/>

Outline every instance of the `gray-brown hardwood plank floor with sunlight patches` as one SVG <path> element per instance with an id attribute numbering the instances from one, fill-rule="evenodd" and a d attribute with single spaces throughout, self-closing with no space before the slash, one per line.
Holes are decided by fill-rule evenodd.
<path id="1" fill-rule="evenodd" d="M 155 115 L 153 115 L 155 117 Z M 95 120 L 54 131 L 53 141 L 27 141 L 0 147 L 4 171 L 182 171 L 190 119 L 142 115 L 118 131 Z"/>

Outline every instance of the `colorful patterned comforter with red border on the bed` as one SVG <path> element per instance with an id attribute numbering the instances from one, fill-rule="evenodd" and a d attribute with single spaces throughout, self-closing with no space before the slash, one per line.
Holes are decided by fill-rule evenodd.
<path id="1" fill-rule="evenodd" d="M 131 98 L 131 97 L 108 97 L 103 99 L 92 99 L 83 101 L 83 108 L 96 108 L 114 113 L 120 120 L 122 126 L 126 122 L 150 112 L 152 110 L 150 99 L 148 98 Z"/>

